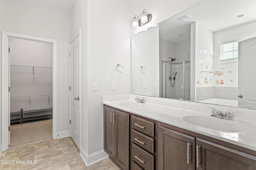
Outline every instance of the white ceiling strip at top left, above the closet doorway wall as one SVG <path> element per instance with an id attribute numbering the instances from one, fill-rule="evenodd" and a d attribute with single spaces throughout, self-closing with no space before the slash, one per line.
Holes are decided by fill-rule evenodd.
<path id="1" fill-rule="evenodd" d="M 52 8 L 60 12 L 69 13 L 76 0 L 23 0 L 47 8 Z"/>

